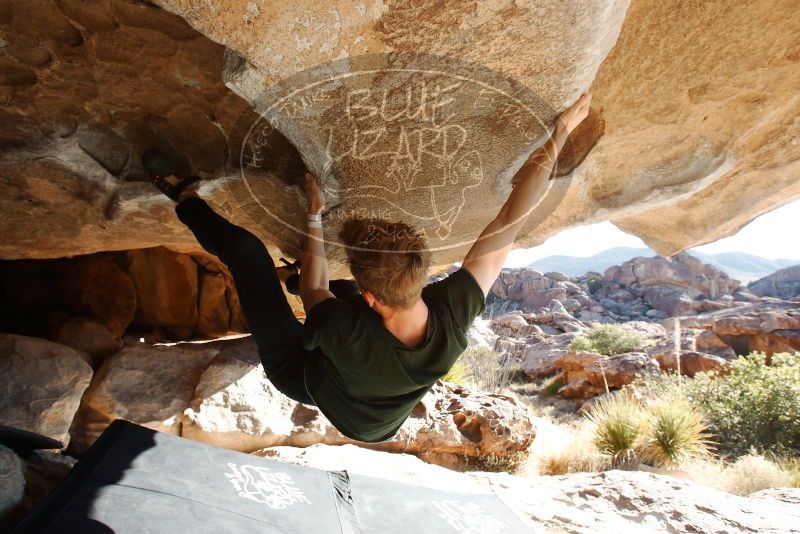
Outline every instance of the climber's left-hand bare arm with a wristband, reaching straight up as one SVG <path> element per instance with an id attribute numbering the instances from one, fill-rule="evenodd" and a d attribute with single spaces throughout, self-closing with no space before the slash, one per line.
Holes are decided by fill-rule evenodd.
<path id="1" fill-rule="evenodd" d="M 325 196 L 319 188 L 317 178 L 306 172 L 306 196 L 308 214 L 319 215 L 325 209 Z M 300 298 L 306 313 L 317 303 L 334 297 L 328 290 L 328 260 L 325 257 L 325 241 L 322 228 L 308 228 L 308 237 L 300 256 Z"/>

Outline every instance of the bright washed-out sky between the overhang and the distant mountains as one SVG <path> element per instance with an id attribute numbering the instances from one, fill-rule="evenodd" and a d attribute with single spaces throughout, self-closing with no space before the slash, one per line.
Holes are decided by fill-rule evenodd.
<path id="1" fill-rule="evenodd" d="M 694 250 L 747 252 L 768 259 L 800 260 L 800 200 L 758 217 L 730 237 L 720 239 Z M 626 234 L 610 222 L 591 224 L 564 230 L 538 247 L 511 252 L 506 267 L 521 267 L 539 258 L 564 254 L 592 256 L 614 247 L 647 246 L 636 236 Z"/>

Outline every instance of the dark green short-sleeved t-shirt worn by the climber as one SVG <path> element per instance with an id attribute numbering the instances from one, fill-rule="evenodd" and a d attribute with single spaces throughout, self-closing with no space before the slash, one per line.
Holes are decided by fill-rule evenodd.
<path id="1" fill-rule="evenodd" d="M 384 441 L 467 348 L 466 333 L 485 307 L 472 274 L 459 269 L 427 285 L 428 330 L 410 349 L 389 332 L 361 295 L 329 298 L 306 317 L 306 389 L 345 436 Z M 314 350 L 314 349 L 321 350 Z"/>

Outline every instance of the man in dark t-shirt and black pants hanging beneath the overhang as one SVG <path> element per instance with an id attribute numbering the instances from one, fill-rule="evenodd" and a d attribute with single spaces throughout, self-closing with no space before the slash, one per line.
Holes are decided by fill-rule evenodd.
<path id="1" fill-rule="evenodd" d="M 339 237 L 355 282 L 329 281 L 321 222 L 325 197 L 309 172 L 302 269 L 297 264 L 278 269 L 261 240 L 198 196 L 199 178 L 178 175 L 152 150 L 142 164 L 176 202 L 178 218 L 200 245 L 228 266 L 275 387 L 297 402 L 316 405 L 345 436 L 378 442 L 394 436 L 467 348 L 467 330 L 483 312 L 518 232 L 547 193 L 558 153 L 586 118 L 590 101 L 591 95 L 581 96 L 557 118 L 552 135 L 520 168 L 514 189 L 461 268 L 428 285 L 431 253 L 423 235 L 382 219 L 342 225 Z M 288 284 L 298 270 L 295 290 L 305 323 L 295 317 L 281 288 L 281 279 Z"/>

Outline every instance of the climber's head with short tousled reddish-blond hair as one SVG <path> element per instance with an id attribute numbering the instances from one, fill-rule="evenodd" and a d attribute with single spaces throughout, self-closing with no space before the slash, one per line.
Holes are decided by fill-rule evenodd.
<path id="1" fill-rule="evenodd" d="M 431 253 L 413 227 L 383 219 L 350 219 L 339 231 L 350 272 L 368 302 L 408 309 L 428 280 Z M 370 302 L 370 305 L 371 302 Z"/>

